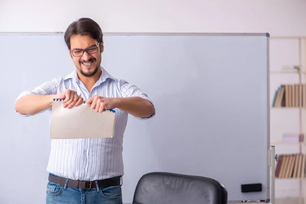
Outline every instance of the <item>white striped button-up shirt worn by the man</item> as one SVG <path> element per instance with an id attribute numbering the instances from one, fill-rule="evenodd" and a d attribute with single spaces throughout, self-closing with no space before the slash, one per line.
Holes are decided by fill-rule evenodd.
<path id="1" fill-rule="evenodd" d="M 103 67 L 101 69 L 102 74 L 91 92 L 88 92 L 85 85 L 79 80 L 77 71 L 74 70 L 65 78 L 53 79 L 32 91 L 22 92 L 17 99 L 27 94 L 57 94 L 70 89 L 78 94 L 82 93 L 84 99 L 94 95 L 104 97 L 140 96 L 152 103 L 138 87 L 124 80 L 117 80 Z M 51 114 L 51 108 L 46 110 Z M 115 134 L 113 138 L 52 139 L 47 171 L 73 180 L 90 181 L 123 175 L 122 141 L 128 114 L 118 108 L 115 111 Z M 155 112 L 149 118 L 154 115 Z"/>

